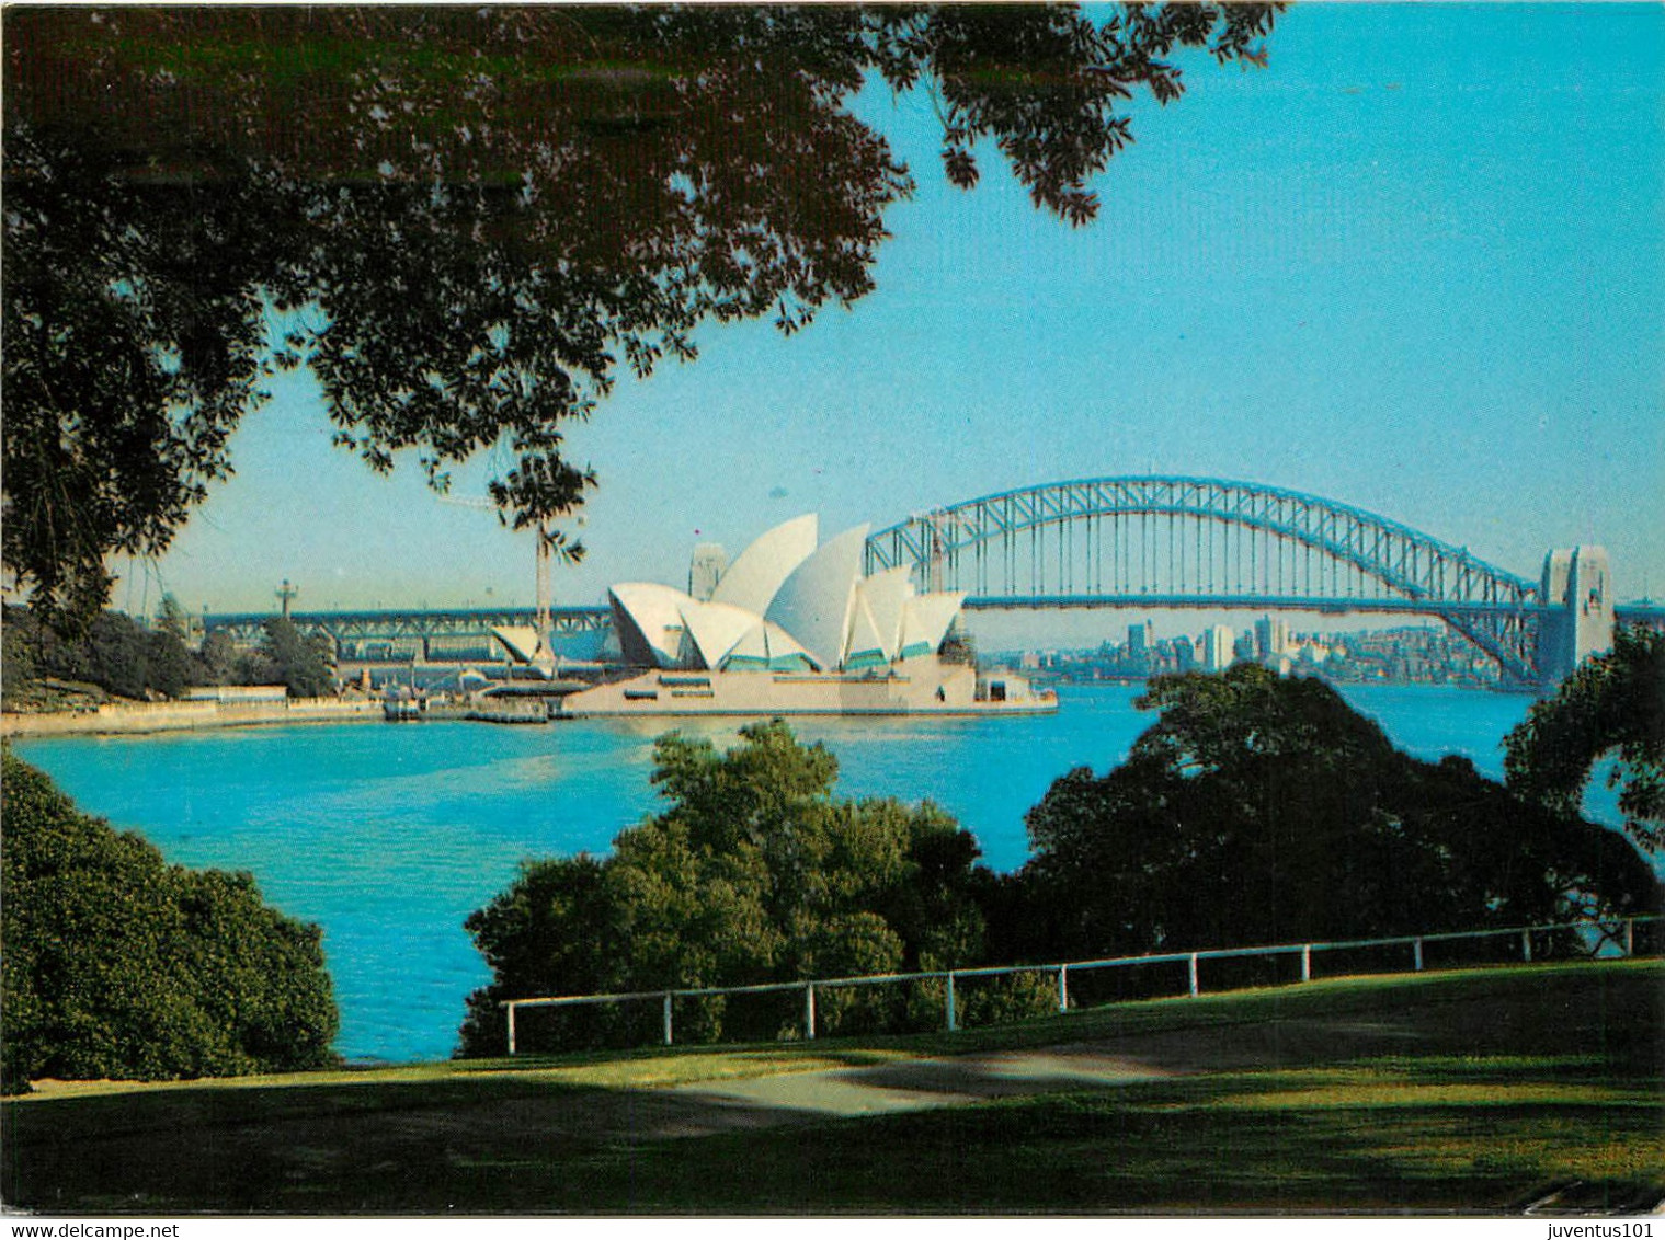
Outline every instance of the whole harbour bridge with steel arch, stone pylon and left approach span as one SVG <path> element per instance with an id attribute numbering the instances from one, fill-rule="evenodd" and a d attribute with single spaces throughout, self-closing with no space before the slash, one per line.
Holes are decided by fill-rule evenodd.
<path id="1" fill-rule="evenodd" d="M 919 513 L 867 538 L 866 571 L 909 566 L 967 609 L 1257 609 L 1442 619 L 1512 682 L 1560 679 L 1618 621 L 1605 553 L 1552 551 L 1538 581 L 1350 504 L 1212 478 L 1046 483 Z M 490 657 L 533 609 L 296 613 L 345 657 Z M 609 627 L 608 608 L 553 608 L 556 639 Z M 268 616 L 210 616 L 248 639 Z M 1605 626 L 1605 627 L 1603 627 Z M 1607 636 L 1603 636 L 1603 632 Z M 501 656 L 501 647 L 496 651 Z"/>

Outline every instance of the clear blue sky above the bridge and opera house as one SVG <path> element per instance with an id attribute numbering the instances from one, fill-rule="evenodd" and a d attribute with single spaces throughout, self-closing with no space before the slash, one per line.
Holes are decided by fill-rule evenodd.
<path id="1" fill-rule="evenodd" d="M 1297 5 L 1267 52 L 1142 100 L 1086 228 L 992 150 L 954 190 L 929 102 L 866 92 L 919 183 L 877 290 L 621 378 L 569 436 L 599 489 L 556 603 L 686 584 L 696 541 L 799 513 L 826 538 L 1147 473 L 1325 496 L 1533 579 L 1598 543 L 1620 599 L 1665 594 L 1665 7 Z M 263 611 L 285 579 L 300 609 L 533 603 L 531 538 L 470 506 L 503 459 L 461 503 L 415 459 L 378 478 L 298 373 L 233 461 L 163 558 L 117 564 L 117 606 Z"/>

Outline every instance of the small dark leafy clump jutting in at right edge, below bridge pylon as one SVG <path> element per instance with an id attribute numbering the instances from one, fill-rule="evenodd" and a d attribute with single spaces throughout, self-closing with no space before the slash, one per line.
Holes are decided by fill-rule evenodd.
<path id="1" fill-rule="evenodd" d="M 1618 629 L 1503 744 L 1508 787 L 1560 814 L 1578 812 L 1590 771 L 1613 759 L 1625 829 L 1648 851 L 1665 846 L 1665 632 Z"/>

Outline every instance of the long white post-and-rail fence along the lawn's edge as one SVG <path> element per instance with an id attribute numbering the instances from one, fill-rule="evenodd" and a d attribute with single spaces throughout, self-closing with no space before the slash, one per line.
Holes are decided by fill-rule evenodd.
<path id="1" fill-rule="evenodd" d="M 1192 997 L 1195 997 L 1202 994 L 1202 979 L 1199 969 L 1202 960 L 1229 960 L 1229 959 L 1275 957 L 1275 955 L 1299 954 L 1300 980 L 1310 982 L 1312 957 L 1317 952 L 1360 950 L 1367 947 L 1410 947 L 1412 970 L 1422 972 L 1425 944 L 1457 942 L 1464 939 L 1498 939 L 1513 935 L 1520 939 L 1520 959 L 1523 962 L 1530 962 L 1532 935 L 1548 934 L 1552 930 L 1595 930 L 1598 937 L 1595 945 L 1592 947 L 1590 952 L 1592 957 L 1608 944 L 1615 945 L 1622 957 L 1632 957 L 1635 955 L 1637 925 L 1658 920 L 1662 920 L 1658 914 L 1643 914 L 1638 917 L 1607 917 L 1607 919 L 1585 917 L 1572 922 L 1550 922 L 1545 925 L 1512 925 L 1492 930 L 1439 930 L 1434 934 L 1407 934 L 1389 939 L 1340 939 L 1335 942 L 1269 944 L 1257 947 L 1205 947 L 1194 952 L 1159 952 L 1156 955 L 1117 955 L 1101 960 L 1064 960 L 1059 964 L 1002 964 L 1002 965 L 982 965 L 976 969 L 937 969 L 916 974 L 866 974 L 861 977 L 816 977 L 798 982 L 761 982 L 756 985 L 706 985 L 706 987 L 678 987 L 671 990 L 633 990 L 628 994 L 504 999 L 498 1005 L 504 1010 L 504 1020 L 508 1025 L 506 1030 L 508 1052 L 513 1055 L 516 1054 L 514 1014 L 519 1009 L 526 1007 L 583 1007 L 596 1004 L 633 1004 L 633 1002 L 659 1000 L 663 1010 L 664 1045 L 673 1045 L 674 1039 L 673 1007 L 678 999 L 708 999 L 713 995 L 761 995 L 761 994 L 783 994 L 789 990 L 801 990 L 804 995 L 804 1017 L 803 1017 L 804 1039 L 813 1040 L 816 1035 L 816 990 L 832 990 L 832 989 L 857 987 L 857 985 L 892 985 L 901 982 L 944 982 L 942 1022 L 944 1029 L 949 1034 L 952 1034 L 959 1029 L 957 1002 L 954 997 L 956 979 L 1001 977 L 1011 974 L 1056 974 L 1057 1010 L 1067 1012 L 1069 977 L 1072 972 L 1081 974 L 1094 969 L 1119 969 L 1129 965 L 1184 962 L 1187 967 L 1187 992 Z"/>

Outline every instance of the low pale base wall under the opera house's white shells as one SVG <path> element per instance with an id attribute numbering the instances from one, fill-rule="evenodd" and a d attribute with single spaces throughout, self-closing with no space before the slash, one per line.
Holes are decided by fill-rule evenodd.
<path id="1" fill-rule="evenodd" d="M 846 672 L 649 671 L 568 696 L 559 717 L 678 714 L 987 714 L 1056 711 L 1019 676 L 939 659 Z"/>

